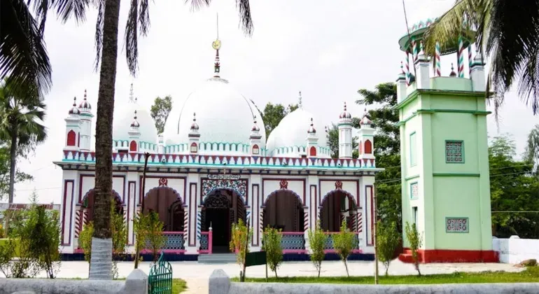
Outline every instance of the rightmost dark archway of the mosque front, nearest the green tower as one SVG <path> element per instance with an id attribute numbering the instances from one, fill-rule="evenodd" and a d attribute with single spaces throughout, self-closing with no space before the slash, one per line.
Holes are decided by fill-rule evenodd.
<path id="1" fill-rule="evenodd" d="M 339 232 L 342 221 L 352 232 L 356 231 L 357 207 L 353 196 L 344 190 L 333 190 L 322 200 L 321 225 L 324 232 Z"/>

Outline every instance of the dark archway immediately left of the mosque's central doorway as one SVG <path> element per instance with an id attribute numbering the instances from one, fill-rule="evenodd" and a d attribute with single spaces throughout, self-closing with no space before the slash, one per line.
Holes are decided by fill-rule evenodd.
<path id="1" fill-rule="evenodd" d="M 165 232 L 183 232 L 183 202 L 176 190 L 156 187 L 144 196 L 144 214 L 155 211 Z"/>

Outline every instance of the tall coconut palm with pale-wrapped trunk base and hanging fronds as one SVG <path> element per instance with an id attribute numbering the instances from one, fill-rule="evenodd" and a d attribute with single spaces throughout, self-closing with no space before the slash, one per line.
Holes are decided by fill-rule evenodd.
<path id="1" fill-rule="evenodd" d="M 14 0 L 10 0 L 14 1 Z M 41 0 L 47 1 L 47 0 Z M 111 239 L 111 193 L 112 193 L 112 125 L 114 90 L 116 85 L 116 62 L 118 57 L 118 19 L 120 0 L 56 0 L 52 5 L 60 18 L 75 17 L 84 20 L 90 1 L 97 4 L 98 16 L 95 32 L 96 69 L 99 72 L 99 92 L 96 118 L 96 163 L 94 196 L 94 235 L 90 279 L 112 279 Z M 211 0 L 191 0 L 193 8 L 209 5 Z M 251 9 L 248 0 L 236 0 L 242 26 L 246 34 L 253 31 Z M 145 36 L 150 26 L 148 0 L 131 0 L 125 25 L 125 57 L 130 73 L 138 69 L 138 37 Z"/>

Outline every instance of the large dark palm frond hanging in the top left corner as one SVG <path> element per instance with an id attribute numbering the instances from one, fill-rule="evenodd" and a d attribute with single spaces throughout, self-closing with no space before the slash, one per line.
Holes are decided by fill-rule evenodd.
<path id="1" fill-rule="evenodd" d="M 0 78 L 10 87 L 37 89 L 52 85 L 52 69 L 41 31 L 23 0 L 0 1 Z M 32 90 L 33 91 L 33 90 Z"/>

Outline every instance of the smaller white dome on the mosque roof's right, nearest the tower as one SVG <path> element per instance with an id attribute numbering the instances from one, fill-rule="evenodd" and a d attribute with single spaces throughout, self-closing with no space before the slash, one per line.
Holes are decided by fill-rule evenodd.
<path id="1" fill-rule="evenodd" d="M 311 118 L 318 134 L 318 146 L 325 148 L 326 139 L 323 126 L 316 123 L 316 118 L 309 111 L 299 108 L 288 113 L 272 133 L 269 134 L 266 144 L 268 154 L 277 155 L 275 151 L 284 148 L 285 154 L 300 155 L 300 151 L 297 151 L 297 148 L 307 146 L 307 130 L 309 130 L 309 126 L 311 125 Z M 286 151 L 286 148 L 288 148 L 288 151 Z M 282 150 L 280 154 L 283 154 Z M 321 154 L 319 156 L 323 157 Z"/>

